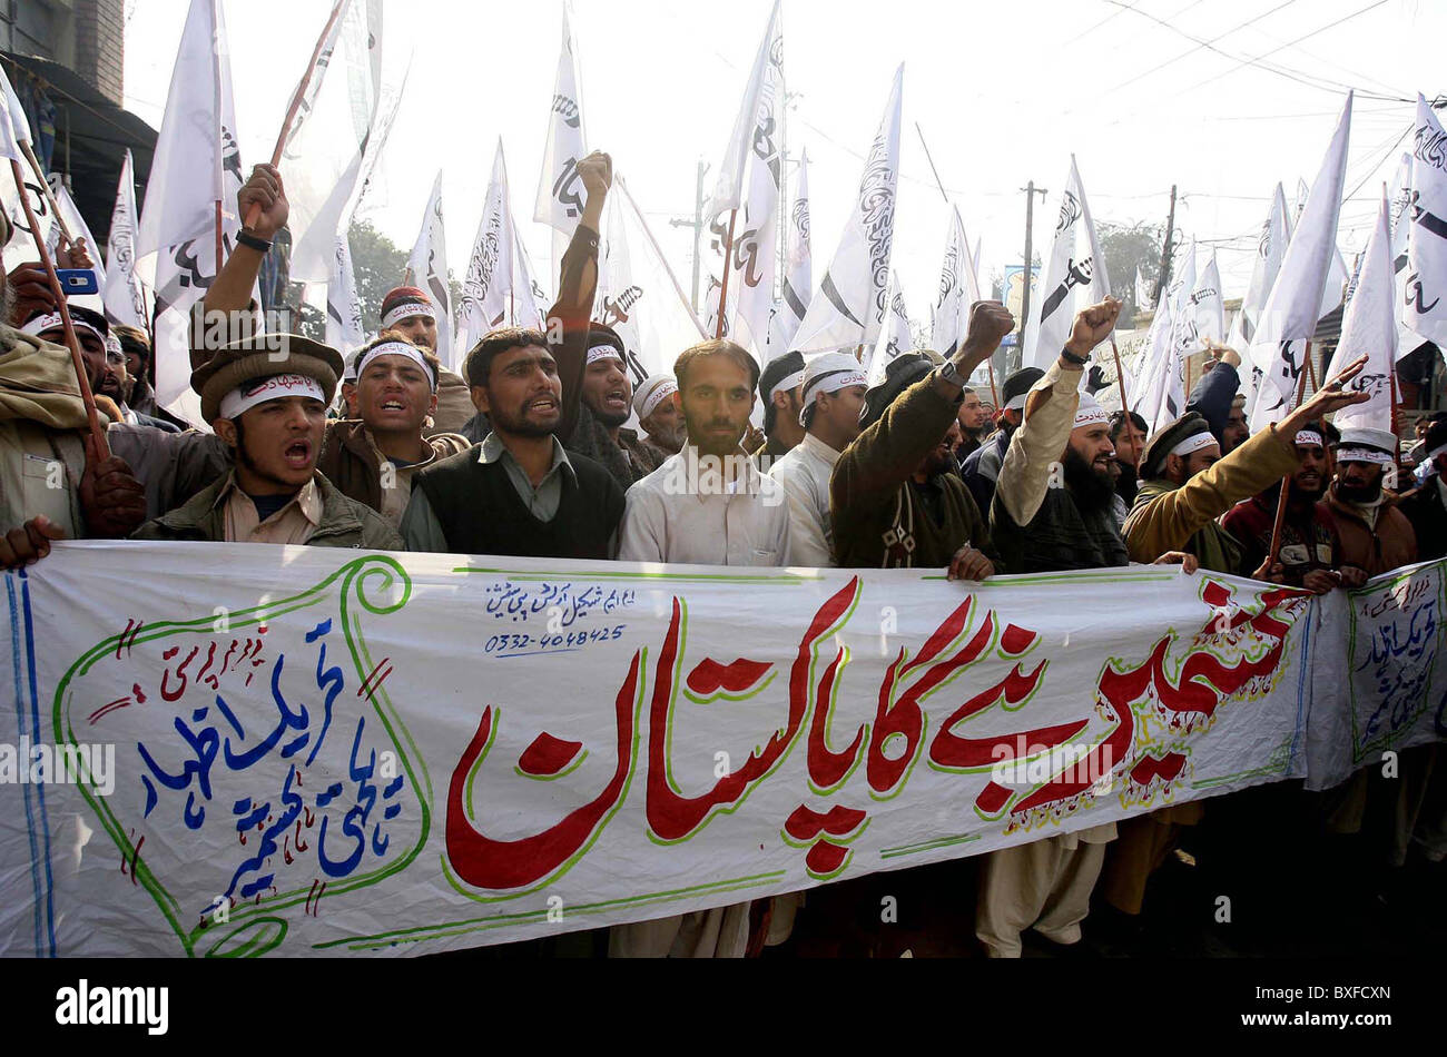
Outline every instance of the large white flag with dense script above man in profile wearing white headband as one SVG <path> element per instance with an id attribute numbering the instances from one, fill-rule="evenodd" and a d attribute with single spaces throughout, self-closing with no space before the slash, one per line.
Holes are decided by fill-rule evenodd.
<path id="1" fill-rule="evenodd" d="M 864 162 L 849 221 L 792 344 L 805 354 L 855 346 L 868 348 L 878 340 L 888 308 L 903 90 L 904 65 L 900 64 L 880 130 Z"/>

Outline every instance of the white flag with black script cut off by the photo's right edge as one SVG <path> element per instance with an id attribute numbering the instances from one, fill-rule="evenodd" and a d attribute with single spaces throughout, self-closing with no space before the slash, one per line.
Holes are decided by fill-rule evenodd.
<path id="1" fill-rule="evenodd" d="M 1412 132 L 1409 217 L 1402 322 L 1447 347 L 1447 132 L 1421 95 Z"/>

